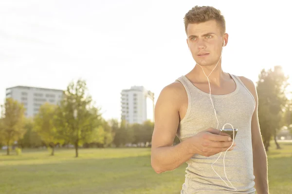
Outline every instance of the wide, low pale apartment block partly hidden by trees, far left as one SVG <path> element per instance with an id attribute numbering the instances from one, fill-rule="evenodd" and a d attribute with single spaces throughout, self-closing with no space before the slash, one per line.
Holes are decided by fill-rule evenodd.
<path id="1" fill-rule="evenodd" d="M 45 102 L 58 104 L 63 96 L 63 90 L 16 86 L 6 89 L 6 98 L 11 97 L 21 102 L 26 109 L 25 116 L 31 117 L 38 113 L 39 107 Z"/>

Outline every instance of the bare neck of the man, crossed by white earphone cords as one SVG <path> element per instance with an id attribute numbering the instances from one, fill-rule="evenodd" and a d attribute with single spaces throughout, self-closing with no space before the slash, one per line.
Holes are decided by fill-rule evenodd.
<path id="1" fill-rule="evenodd" d="M 220 85 L 220 83 L 224 79 L 226 79 L 227 74 L 222 71 L 221 60 L 219 61 L 218 65 L 216 67 L 215 66 L 216 64 L 205 65 L 205 66 L 200 66 L 196 64 L 196 66 L 187 74 L 187 76 L 189 76 L 192 81 L 197 82 L 197 83 L 208 82 L 206 76 L 209 76 L 208 78 L 209 78 L 210 83 Z M 204 74 L 202 69 L 204 70 L 206 75 Z"/>

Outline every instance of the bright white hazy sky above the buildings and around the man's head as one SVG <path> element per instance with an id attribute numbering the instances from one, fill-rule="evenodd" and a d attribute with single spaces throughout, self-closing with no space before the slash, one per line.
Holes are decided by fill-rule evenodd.
<path id="1" fill-rule="evenodd" d="M 156 101 L 195 65 L 183 25 L 195 5 L 225 16 L 223 71 L 256 82 L 282 65 L 292 75 L 284 0 L 0 0 L 0 102 L 8 87 L 65 90 L 79 78 L 106 119 L 120 118 L 122 89 L 143 85 Z"/>

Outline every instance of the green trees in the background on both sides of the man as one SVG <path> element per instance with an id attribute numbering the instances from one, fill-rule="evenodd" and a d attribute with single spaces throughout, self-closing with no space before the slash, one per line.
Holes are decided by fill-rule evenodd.
<path id="1" fill-rule="evenodd" d="M 279 130 L 292 129 L 288 85 L 281 66 L 263 69 L 256 82 L 258 119 L 267 151 L 273 138 L 280 148 L 276 139 Z M 73 146 L 76 157 L 79 147 L 151 146 L 154 123 L 128 125 L 114 119 L 106 121 L 94 106 L 83 80 L 71 82 L 59 105 L 43 104 L 34 118 L 25 118 L 23 105 L 11 98 L 5 100 L 1 110 L 0 146 L 47 146 L 52 155 L 55 146 Z"/>

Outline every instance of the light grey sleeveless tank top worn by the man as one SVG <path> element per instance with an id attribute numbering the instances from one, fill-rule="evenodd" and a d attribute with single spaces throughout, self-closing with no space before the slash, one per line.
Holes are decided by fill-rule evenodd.
<path id="1" fill-rule="evenodd" d="M 236 90 L 226 95 L 211 95 L 211 97 L 217 112 L 219 129 L 225 123 L 230 123 L 234 129 L 238 129 L 235 138 L 237 145 L 225 156 L 227 178 L 237 191 L 228 187 L 211 167 L 219 154 L 210 157 L 195 154 L 186 162 L 188 166 L 181 194 L 255 194 L 251 121 L 256 102 L 243 82 L 235 75 L 230 74 L 230 76 L 236 83 Z M 201 91 L 185 76 L 176 81 L 183 84 L 188 97 L 186 115 L 181 120 L 177 131 L 179 139 L 183 141 L 210 127 L 216 129 L 217 120 L 209 93 Z M 225 125 L 225 129 L 227 128 L 232 129 L 230 125 Z M 224 152 L 213 167 L 231 186 L 224 174 L 223 156 Z"/>

